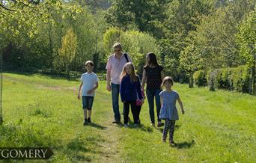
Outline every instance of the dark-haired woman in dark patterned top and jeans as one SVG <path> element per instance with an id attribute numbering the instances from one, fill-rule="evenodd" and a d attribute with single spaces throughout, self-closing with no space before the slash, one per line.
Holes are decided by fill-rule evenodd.
<path id="1" fill-rule="evenodd" d="M 156 60 L 156 55 L 150 52 L 146 56 L 146 65 L 144 66 L 143 76 L 142 76 L 142 88 L 144 89 L 144 84 L 147 82 L 147 102 L 149 105 L 151 126 L 155 126 L 155 112 L 154 112 L 154 97 L 156 98 L 156 114 L 157 114 L 157 126 L 163 126 L 161 119 L 159 118 L 159 112 L 161 109 L 159 93 L 161 92 L 162 79 L 164 74 L 162 72 L 162 66 L 160 66 Z"/>

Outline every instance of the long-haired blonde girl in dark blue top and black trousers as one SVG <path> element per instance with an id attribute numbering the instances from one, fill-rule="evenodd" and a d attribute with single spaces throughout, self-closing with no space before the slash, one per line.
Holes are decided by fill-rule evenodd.
<path id="1" fill-rule="evenodd" d="M 141 84 L 138 76 L 135 74 L 134 66 L 128 62 L 124 65 L 123 73 L 121 73 L 120 85 L 121 100 L 124 102 L 124 127 L 128 127 L 129 105 L 132 108 L 132 117 L 135 124 L 138 124 L 138 114 L 135 108 L 135 102 L 138 98 L 142 99 Z"/>

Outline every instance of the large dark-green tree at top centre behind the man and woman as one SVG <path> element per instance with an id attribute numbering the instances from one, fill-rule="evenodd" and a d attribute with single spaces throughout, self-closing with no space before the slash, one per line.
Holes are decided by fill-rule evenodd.
<path id="1" fill-rule="evenodd" d="M 165 8 L 170 0 L 114 0 L 106 14 L 107 22 L 127 30 L 149 32 L 162 37 Z"/>

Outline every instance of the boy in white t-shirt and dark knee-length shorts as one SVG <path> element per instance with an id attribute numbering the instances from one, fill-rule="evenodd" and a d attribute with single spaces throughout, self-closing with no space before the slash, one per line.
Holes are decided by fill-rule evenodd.
<path id="1" fill-rule="evenodd" d="M 91 123 L 91 108 L 94 102 L 95 92 L 99 86 L 98 76 L 92 71 L 94 69 L 94 62 L 86 61 L 85 68 L 87 73 L 82 74 L 81 84 L 79 87 L 79 94 L 77 96 L 80 99 L 80 91 L 82 88 L 82 108 L 84 109 L 84 126 L 88 123 Z M 88 110 L 88 117 L 87 117 Z"/>

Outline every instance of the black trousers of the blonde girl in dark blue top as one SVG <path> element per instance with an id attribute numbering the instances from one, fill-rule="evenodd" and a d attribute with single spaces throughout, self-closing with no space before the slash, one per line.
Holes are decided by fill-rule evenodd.
<path id="1" fill-rule="evenodd" d="M 124 124 L 128 123 L 129 105 L 131 105 L 132 117 L 133 117 L 134 123 L 138 123 L 138 114 L 136 111 L 135 103 L 136 103 L 135 100 L 124 102 Z"/>

